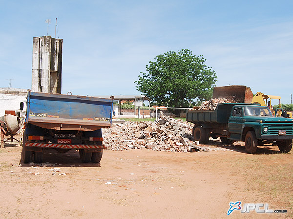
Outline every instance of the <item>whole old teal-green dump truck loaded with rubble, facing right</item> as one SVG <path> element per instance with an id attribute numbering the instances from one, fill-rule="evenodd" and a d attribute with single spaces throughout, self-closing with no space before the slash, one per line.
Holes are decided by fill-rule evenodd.
<path id="1" fill-rule="evenodd" d="M 222 143 L 244 141 L 248 153 L 257 146 L 277 145 L 281 152 L 292 148 L 293 119 L 274 117 L 260 104 L 222 103 L 215 110 L 189 110 L 186 120 L 194 123 L 193 136 L 200 143 L 220 137 Z"/>

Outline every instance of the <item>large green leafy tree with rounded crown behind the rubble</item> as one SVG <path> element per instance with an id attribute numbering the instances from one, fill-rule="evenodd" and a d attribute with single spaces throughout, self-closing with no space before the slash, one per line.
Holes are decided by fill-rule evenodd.
<path id="1" fill-rule="evenodd" d="M 189 107 L 196 98 L 201 101 L 212 97 L 217 76 L 205 61 L 188 49 L 169 51 L 150 61 L 134 83 L 138 91 L 158 104 Z"/>

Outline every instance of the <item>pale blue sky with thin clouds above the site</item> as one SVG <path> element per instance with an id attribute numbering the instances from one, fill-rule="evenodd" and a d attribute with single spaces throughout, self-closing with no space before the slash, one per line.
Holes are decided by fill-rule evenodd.
<path id="1" fill-rule="evenodd" d="M 217 86 L 293 94 L 292 0 L 0 0 L 0 87 L 31 88 L 33 37 L 63 39 L 62 93 L 136 95 L 157 55 L 190 49 Z M 272 104 L 276 104 L 272 102 Z"/>

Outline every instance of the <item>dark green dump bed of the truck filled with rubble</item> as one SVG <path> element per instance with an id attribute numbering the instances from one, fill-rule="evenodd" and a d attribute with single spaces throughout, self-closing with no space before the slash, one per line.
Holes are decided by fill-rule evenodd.
<path id="1" fill-rule="evenodd" d="M 243 103 L 222 103 L 218 104 L 215 110 L 188 110 L 186 121 L 196 124 L 228 123 L 231 109 L 235 105 L 243 105 Z"/>

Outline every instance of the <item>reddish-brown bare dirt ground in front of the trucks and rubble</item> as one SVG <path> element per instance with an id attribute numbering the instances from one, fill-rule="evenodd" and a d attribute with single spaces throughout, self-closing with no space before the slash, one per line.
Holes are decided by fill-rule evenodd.
<path id="1" fill-rule="evenodd" d="M 210 141 L 205 147 L 211 150 L 105 150 L 100 164 L 81 163 L 77 151 L 47 150 L 47 166 L 40 167 L 23 164 L 21 147 L 6 143 L 0 149 L 0 218 L 293 217 L 293 152 L 281 154 L 271 146 L 252 155 L 241 142 Z M 288 213 L 234 210 L 228 216 L 229 203 L 237 201 Z"/>

